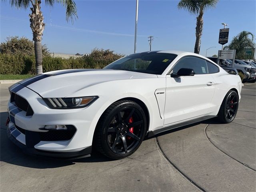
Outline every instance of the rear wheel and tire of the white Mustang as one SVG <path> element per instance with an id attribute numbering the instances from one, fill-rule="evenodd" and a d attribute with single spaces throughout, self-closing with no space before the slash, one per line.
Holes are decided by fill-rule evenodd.
<path id="1" fill-rule="evenodd" d="M 238 94 L 234 90 L 229 90 L 220 106 L 218 120 L 222 123 L 231 123 L 236 117 L 238 102 Z"/>

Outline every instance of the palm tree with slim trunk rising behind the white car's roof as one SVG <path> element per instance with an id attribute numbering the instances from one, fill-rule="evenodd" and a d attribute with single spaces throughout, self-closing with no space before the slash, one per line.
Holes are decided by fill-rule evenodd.
<path id="1" fill-rule="evenodd" d="M 218 0 L 181 0 L 178 3 L 179 9 L 188 10 L 191 14 L 196 15 L 196 44 L 194 53 L 199 54 L 200 52 L 204 11 L 208 8 L 214 8 L 217 2 Z"/>

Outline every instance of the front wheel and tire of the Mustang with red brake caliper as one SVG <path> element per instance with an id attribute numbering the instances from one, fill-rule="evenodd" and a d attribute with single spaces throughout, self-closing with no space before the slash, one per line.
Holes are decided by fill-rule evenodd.
<path id="1" fill-rule="evenodd" d="M 133 154 L 144 140 L 146 115 L 136 102 L 121 100 L 102 114 L 94 133 L 94 148 L 112 159 Z"/>

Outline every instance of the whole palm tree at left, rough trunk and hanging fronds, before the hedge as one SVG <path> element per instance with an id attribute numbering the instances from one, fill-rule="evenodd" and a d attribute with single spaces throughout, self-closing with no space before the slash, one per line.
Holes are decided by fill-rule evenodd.
<path id="1" fill-rule="evenodd" d="M 5 2 L 6 0 L 2 0 Z M 76 4 L 74 0 L 45 0 L 45 4 L 53 7 L 54 3 L 60 3 L 66 8 L 66 20 L 73 22 L 73 18 L 77 18 Z M 41 0 L 10 0 L 10 5 L 18 9 L 27 9 L 30 7 L 29 14 L 30 28 L 33 33 L 35 56 L 36 56 L 36 74 L 41 74 L 42 69 L 42 35 L 44 31 L 44 16 L 41 9 Z"/>

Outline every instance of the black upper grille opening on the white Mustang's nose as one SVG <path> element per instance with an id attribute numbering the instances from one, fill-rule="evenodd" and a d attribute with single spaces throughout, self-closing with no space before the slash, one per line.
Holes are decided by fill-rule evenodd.
<path id="1" fill-rule="evenodd" d="M 11 102 L 14 102 L 15 105 L 22 111 L 26 111 L 26 116 L 32 116 L 34 114 L 32 108 L 28 104 L 28 101 L 13 92 L 11 94 Z"/>

